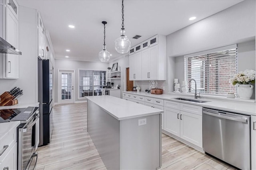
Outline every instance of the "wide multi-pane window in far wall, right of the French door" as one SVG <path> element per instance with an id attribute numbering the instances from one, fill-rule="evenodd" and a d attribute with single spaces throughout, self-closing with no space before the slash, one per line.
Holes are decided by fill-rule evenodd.
<path id="1" fill-rule="evenodd" d="M 79 97 L 96 96 L 106 84 L 106 71 L 79 70 Z"/>

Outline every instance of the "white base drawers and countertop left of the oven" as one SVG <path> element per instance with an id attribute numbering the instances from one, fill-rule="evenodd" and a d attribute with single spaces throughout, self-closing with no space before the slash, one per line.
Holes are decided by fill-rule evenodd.
<path id="1" fill-rule="evenodd" d="M 17 127 L 19 121 L 0 123 L 0 170 L 17 169 Z"/>

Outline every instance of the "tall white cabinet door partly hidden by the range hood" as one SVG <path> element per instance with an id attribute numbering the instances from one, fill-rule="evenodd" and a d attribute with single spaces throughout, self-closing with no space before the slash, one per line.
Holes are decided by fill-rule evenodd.
<path id="1" fill-rule="evenodd" d="M 19 23 L 10 8 L 6 8 L 6 41 L 18 48 Z M 19 78 L 19 56 L 6 54 L 5 78 Z"/>

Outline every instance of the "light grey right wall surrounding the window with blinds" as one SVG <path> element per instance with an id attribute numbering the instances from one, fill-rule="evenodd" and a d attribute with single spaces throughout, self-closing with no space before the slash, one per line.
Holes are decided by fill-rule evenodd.
<path id="1" fill-rule="evenodd" d="M 184 80 L 184 60 L 178 56 L 237 43 L 238 70 L 255 70 L 255 4 L 256 1 L 240 2 L 166 36 L 169 92 L 174 89 L 174 77 Z"/>

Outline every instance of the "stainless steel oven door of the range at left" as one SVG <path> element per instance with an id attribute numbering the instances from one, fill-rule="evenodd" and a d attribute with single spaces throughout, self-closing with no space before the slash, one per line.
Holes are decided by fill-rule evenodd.
<path id="1" fill-rule="evenodd" d="M 36 147 L 36 121 L 38 114 L 35 114 L 23 127 L 18 127 L 18 170 L 25 170 Z M 22 124 L 21 124 L 22 125 Z"/>

